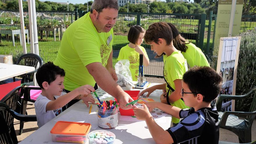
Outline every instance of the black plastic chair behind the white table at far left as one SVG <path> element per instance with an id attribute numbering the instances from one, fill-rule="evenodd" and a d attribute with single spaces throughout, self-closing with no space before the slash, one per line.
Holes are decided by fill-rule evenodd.
<path id="1" fill-rule="evenodd" d="M 25 65 L 25 66 L 31 66 L 35 67 L 35 70 L 32 72 L 28 72 L 26 74 L 22 75 L 22 81 L 21 83 L 27 84 L 27 83 L 32 83 L 34 74 L 37 72 L 37 64 L 39 63 L 39 67 L 43 64 L 43 60 L 40 56 L 37 54 L 24 54 L 22 55 L 18 60 L 15 65 Z M 13 77 L 13 81 L 15 81 L 15 77 Z"/>

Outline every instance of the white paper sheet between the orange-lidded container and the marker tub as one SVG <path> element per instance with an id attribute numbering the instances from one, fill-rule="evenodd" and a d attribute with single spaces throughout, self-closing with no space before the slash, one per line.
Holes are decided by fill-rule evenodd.
<path id="1" fill-rule="evenodd" d="M 90 123 L 92 125 L 91 129 L 96 129 L 98 127 L 98 117 L 96 112 L 91 112 L 89 114 L 84 111 L 71 110 L 54 121 L 84 122 Z"/>

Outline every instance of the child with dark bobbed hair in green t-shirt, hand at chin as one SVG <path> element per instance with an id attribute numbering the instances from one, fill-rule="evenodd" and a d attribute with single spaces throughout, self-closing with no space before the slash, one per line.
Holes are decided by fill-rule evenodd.
<path id="1" fill-rule="evenodd" d="M 117 60 L 127 59 L 130 62 L 129 69 L 133 81 L 137 81 L 139 73 L 139 55 L 143 54 L 143 65 L 149 65 L 149 59 L 144 47 L 141 46 L 143 42 L 145 31 L 141 26 L 131 26 L 128 32 L 128 45 L 120 49 Z"/>

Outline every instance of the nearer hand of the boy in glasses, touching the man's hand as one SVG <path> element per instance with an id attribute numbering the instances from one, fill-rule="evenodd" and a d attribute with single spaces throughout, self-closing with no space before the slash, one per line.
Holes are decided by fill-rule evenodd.
<path id="1" fill-rule="evenodd" d="M 134 116 L 136 116 L 136 118 L 138 120 L 146 120 L 148 118 L 151 118 L 152 115 L 151 113 L 148 111 L 147 106 L 145 104 L 142 104 L 143 108 L 134 108 Z"/>

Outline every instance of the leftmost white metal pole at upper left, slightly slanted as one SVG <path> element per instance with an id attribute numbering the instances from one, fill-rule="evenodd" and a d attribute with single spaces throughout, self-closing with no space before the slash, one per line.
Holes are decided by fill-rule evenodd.
<path id="1" fill-rule="evenodd" d="M 25 28 L 24 28 L 24 16 L 23 16 L 23 6 L 22 0 L 19 0 L 19 17 L 20 17 L 20 28 L 21 28 L 21 39 L 22 39 L 22 47 L 23 47 L 23 54 L 27 53 L 26 47 L 26 37 L 25 37 Z"/>

